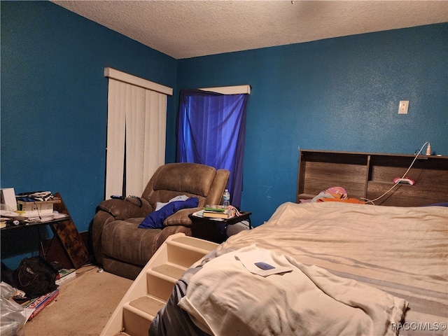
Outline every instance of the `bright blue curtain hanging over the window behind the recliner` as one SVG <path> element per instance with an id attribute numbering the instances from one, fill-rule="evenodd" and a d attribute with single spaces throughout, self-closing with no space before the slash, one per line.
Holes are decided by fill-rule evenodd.
<path id="1" fill-rule="evenodd" d="M 241 207 L 248 94 L 181 90 L 177 162 L 228 169 L 230 204 Z"/>

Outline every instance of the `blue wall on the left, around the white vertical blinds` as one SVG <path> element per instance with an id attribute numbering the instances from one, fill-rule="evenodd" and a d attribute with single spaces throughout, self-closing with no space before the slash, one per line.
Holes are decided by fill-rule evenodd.
<path id="1" fill-rule="evenodd" d="M 2 1 L 1 187 L 59 191 L 78 231 L 87 231 L 104 200 L 104 67 L 175 89 L 176 65 L 176 59 L 49 1 Z M 169 111 L 174 106 L 169 97 Z M 36 253 L 36 232 L 25 231 L 15 238 Z"/>

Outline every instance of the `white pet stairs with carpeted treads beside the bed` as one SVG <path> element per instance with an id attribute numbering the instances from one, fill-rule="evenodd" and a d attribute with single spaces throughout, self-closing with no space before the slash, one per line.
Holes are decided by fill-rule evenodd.
<path id="1" fill-rule="evenodd" d="M 183 272 L 218 244 L 178 233 L 167 238 L 113 312 L 101 336 L 148 336 L 151 321 Z"/>

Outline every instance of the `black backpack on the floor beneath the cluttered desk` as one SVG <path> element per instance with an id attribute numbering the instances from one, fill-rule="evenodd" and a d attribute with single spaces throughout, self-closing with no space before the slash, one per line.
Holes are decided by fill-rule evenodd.
<path id="1" fill-rule="evenodd" d="M 11 286 L 23 290 L 33 299 L 57 289 L 57 270 L 41 256 L 24 258 L 13 272 Z"/>

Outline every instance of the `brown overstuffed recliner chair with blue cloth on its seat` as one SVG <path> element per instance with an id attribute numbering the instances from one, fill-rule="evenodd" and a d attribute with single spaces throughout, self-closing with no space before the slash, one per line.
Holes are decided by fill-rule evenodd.
<path id="1" fill-rule="evenodd" d="M 135 279 L 155 251 L 178 232 L 191 236 L 188 214 L 206 204 L 221 204 L 229 171 L 195 163 L 169 163 L 154 173 L 141 203 L 136 198 L 101 202 L 92 225 L 94 256 L 104 270 Z M 197 197 L 197 208 L 181 209 L 163 222 L 162 229 L 138 228 L 155 211 L 158 202 L 166 203 L 179 195 Z"/>

